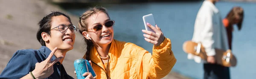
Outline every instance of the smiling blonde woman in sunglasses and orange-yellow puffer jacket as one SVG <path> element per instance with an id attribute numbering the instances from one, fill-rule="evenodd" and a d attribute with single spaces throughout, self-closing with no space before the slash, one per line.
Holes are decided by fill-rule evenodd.
<path id="1" fill-rule="evenodd" d="M 88 9 L 79 20 L 87 44 L 83 58 L 92 62 L 97 79 L 160 79 L 172 70 L 176 59 L 171 41 L 157 25 L 148 24 L 156 33 L 142 30 L 145 41 L 154 44 L 151 55 L 133 43 L 113 39 L 114 23 L 102 7 Z"/>

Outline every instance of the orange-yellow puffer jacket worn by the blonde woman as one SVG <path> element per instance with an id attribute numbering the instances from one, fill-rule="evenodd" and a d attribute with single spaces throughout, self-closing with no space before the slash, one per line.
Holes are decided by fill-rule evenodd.
<path id="1" fill-rule="evenodd" d="M 166 76 L 176 63 L 171 41 L 165 38 L 159 46 L 153 46 L 153 53 L 129 42 L 113 40 L 109 50 L 111 79 L 160 79 Z M 85 56 L 83 57 L 85 59 Z M 107 63 L 103 64 L 96 48 L 90 52 L 96 79 L 107 79 Z"/>

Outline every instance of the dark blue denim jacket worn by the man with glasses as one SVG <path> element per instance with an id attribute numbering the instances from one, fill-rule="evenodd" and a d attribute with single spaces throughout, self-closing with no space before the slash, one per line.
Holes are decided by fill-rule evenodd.
<path id="1" fill-rule="evenodd" d="M 0 79 L 20 79 L 35 69 L 35 63 L 42 62 L 52 51 L 46 46 L 38 50 L 24 49 L 18 50 L 13 54 L 6 68 L 0 74 Z M 52 56 L 51 60 L 56 59 Z M 53 65 L 54 72 L 47 79 L 74 79 L 69 76 L 60 62 Z"/>

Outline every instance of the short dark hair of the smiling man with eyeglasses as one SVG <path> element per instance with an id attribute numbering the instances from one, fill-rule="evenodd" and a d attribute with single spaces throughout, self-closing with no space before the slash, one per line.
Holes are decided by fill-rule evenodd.
<path id="1" fill-rule="evenodd" d="M 51 25 L 52 25 L 51 24 L 52 23 L 52 17 L 60 16 L 60 15 L 63 15 L 65 17 L 67 17 L 71 22 L 71 19 L 67 14 L 64 14 L 64 13 L 61 13 L 61 12 L 58 12 L 58 11 L 52 11 L 51 14 L 46 15 L 42 20 L 39 21 L 39 23 L 38 23 L 39 28 L 38 28 L 36 37 L 37 37 L 38 41 L 41 43 L 42 46 L 46 46 L 46 45 L 45 45 L 45 41 L 43 40 L 41 34 L 43 32 L 46 32 L 47 34 L 50 35 L 51 34 L 50 29 L 51 29 Z"/>

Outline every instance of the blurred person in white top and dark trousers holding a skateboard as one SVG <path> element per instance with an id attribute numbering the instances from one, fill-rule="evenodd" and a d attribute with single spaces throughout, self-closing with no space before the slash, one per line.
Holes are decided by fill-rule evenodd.
<path id="1" fill-rule="evenodd" d="M 227 50 L 228 40 L 227 32 L 223 26 L 221 14 L 215 3 L 218 0 L 204 0 L 201 8 L 198 11 L 193 42 L 201 42 L 207 53 L 207 61 L 204 61 L 204 79 L 230 79 L 229 67 L 216 64 L 215 48 Z M 200 63 L 201 58 L 188 54 L 188 59 L 194 59 Z"/>

